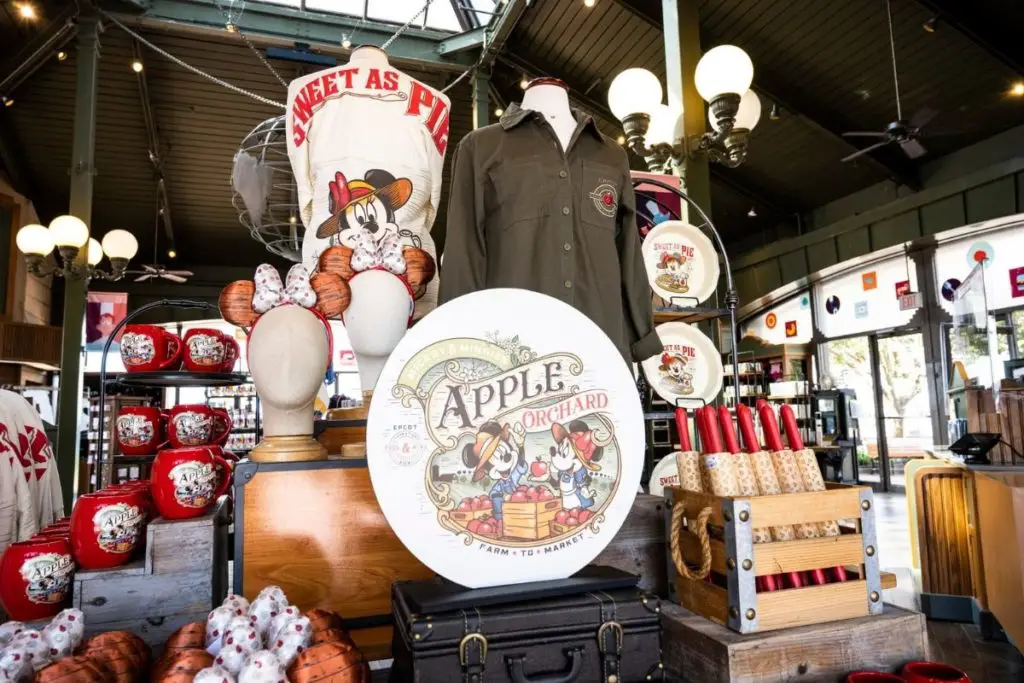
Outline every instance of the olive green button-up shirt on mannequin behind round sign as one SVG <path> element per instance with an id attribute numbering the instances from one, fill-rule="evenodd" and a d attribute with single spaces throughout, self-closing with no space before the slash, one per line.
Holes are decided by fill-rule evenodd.
<path id="1" fill-rule="evenodd" d="M 456 150 L 439 301 L 513 287 L 574 306 L 627 360 L 662 351 L 625 151 L 593 119 L 568 150 L 537 112 L 512 104 Z"/>

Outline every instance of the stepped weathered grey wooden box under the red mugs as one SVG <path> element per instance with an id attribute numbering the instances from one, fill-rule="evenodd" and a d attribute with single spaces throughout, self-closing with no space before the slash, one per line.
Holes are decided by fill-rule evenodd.
<path id="1" fill-rule="evenodd" d="M 72 605 L 87 635 L 131 631 L 151 647 L 207 614 L 227 594 L 227 501 L 196 519 L 157 518 L 142 557 L 114 569 L 75 573 Z"/>

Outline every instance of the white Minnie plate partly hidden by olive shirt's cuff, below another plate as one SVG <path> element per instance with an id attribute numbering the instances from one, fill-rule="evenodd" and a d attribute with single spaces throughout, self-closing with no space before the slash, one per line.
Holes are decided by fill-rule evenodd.
<path id="1" fill-rule="evenodd" d="M 665 346 L 643 361 L 643 373 L 657 395 L 672 405 L 712 402 L 722 390 L 722 354 L 695 326 L 664 323 L 656 328 Z"/>

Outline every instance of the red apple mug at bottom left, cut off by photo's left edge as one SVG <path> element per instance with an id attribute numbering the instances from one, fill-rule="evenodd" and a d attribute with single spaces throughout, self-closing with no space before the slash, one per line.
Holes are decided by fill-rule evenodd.
<path id="1" fill-rule="evenodd" d="M 0 603 L 16 622 L 49 618 L 67 606 L 74 573 L 68 539 L 12 543 L 0 557 Z"/>

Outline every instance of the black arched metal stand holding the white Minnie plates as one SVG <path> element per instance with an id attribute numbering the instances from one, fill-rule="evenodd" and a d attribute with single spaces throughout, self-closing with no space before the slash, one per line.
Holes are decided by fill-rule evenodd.
<path id="1" fill-rule="evenodd" d="M 727 358 L 732 358 L 731 389 L 734 394 L 733 404 L 735 404 L 736 402 L 739 402 L 739 364 L 736 361 L 736 308 L 739 305 L 739 297 L 736 295 L 735 285 L 732 282 L 732 268 L 729 265 L 729 255 L 725 250 L 722 238 L 711 218 L 708 217 L 708 214 L 706 214 L 685 191 L 679 189 L 678 187 L 673 187 L 671 184 L 655 178 L 634 178 L 634 188 L 639 187 L 640 185 L 654 185 L 659 190 L 677 195 L 688 207 L 690 216 L 698 217 L 700 219 L 701 222 L 697 224 L 696 227 L 711 233 L 716 248 L 722 255 L 723 263 L 721 265 L 720 274 L 725 278 L 725 294 L 723 297 L 725 308 L 698 305 L 698 301 L 694 297 L 673 296 L 669 299 L 669 305 L 654 307 L 654 324 L 688 323 L 693 325 L 719 318 L 728 318 L 729 350 L 726 351 L 725 355 Z M 654 201 L 657 202 L 657 200 Z M 662 205 L 663 210 L 669 210 L 668 207 L 664 206 L 660 202 L 658 202 L 658 204 Z M 728 384 L 725 386 L 728 387 Z M 643 396 L 644 420 L 646 421 L 647 431 L 647 453 L 642 479 L 646 482 L 650 471 L 653 468 L 654 461 L 674 450 L 672 446 L 674 440 L 671 436 L 668 438 L 659 438 L 658 435 L 664 433 L 671 434 L 673 429 L 672 425 L 675 420 L 675 409 L 701 408 L 707 401 L 703 398 L 679 398 L 673 405 L 663 400 L 659 396 L 657 396 L 657 394 L 654 393 L 653 388 L 649 386 L 647 378 L 644 376 L 642 371 L 639 373 L 638 389 Z"/>

